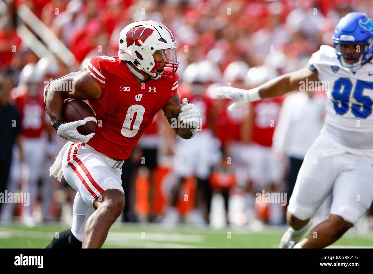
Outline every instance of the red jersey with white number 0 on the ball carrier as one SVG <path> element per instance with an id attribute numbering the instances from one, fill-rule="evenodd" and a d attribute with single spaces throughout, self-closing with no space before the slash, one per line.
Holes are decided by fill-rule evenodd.
<path id="1" fill-rule="evenodd" d="M 125 61 L 111 56 L 93 56 L 87 72 L 102 90 L 100 98 L 88 100 L 98 123 L 88 145 L 111 158 L 127 159 L 145 127 L 176 94 L 179 76 L 139 85 Z"/>

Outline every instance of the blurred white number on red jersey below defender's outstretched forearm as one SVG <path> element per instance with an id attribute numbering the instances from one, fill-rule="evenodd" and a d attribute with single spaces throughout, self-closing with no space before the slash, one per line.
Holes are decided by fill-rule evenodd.
<path id="1" fill-rule="evenodd" d="M 255 108 L 255 125 L 260 128 L 271 127 L 271 123 L 277 122 L 280 113 L 280 105 L 271 101 L 258 103 Z"/>

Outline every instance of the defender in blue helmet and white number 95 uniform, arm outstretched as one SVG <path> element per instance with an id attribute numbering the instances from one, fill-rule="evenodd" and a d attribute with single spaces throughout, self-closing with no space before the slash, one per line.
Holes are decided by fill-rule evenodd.
<path id="1" fill-rule="evenodd" d="M 322 45 L 308 67 L 254 89 L 230 87 L 217 94 L 241 105 L 324 84 L 326 119 L 305 155 L 286 212 L 290 225 L 280 248 L 324 248 L 338 240 L 370 208 L 373 199 L 373 21 L 352 12 L 337 24 L 335 48 Z M 312 217 L 333 193 L 329 219 L 311 229 Z M 317 237 L 314 235 L 317 234 Z"/>

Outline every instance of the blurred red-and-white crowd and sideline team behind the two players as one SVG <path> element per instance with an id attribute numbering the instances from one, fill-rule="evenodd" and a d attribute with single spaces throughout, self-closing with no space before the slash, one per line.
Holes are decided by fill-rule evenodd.
<path id="1" fill-rule="evenodd" d="M 123 164 L 122 221 L 217 228 L 285 224 L 284 205 L 323 125 L 322 87 L 233 112 L 214 90 L 253 88 L 305 67 L 320 45 L 333 45 L 336 23 L 352 11 L 372 16 L 373 1 L 0 1 L 0 120 L 15 117 L 22 125 L 0 128 L 0 192 L 31 195 L 28 207 L 0 204 L 1 222 L 70 224 L 75 191 L 49 177 L 66 140 L 46 117 L 43 88 L 84 70 L 91 56 L 117 56 L 120 30 L 149 19 L 173 32 L 178 93 L 197 105 L 202 121 L 200 132 L 183 140 L 162 113 L 154 118 Z M 279 193 L 285 202 L 266 200 L 265 193 Z M 327 218 L 328 201 L 318 216 Z"/>

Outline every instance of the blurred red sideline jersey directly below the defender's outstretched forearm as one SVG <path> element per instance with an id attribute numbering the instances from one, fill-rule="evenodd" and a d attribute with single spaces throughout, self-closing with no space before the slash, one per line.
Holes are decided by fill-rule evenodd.
<path id="1" fill-rule="evenodd" d="M 253 138 L 259 145 L 272 146 L 272 136 L 277 125 L 283 98 L 265 98 L 251 104 L 253 107 Z"/>

